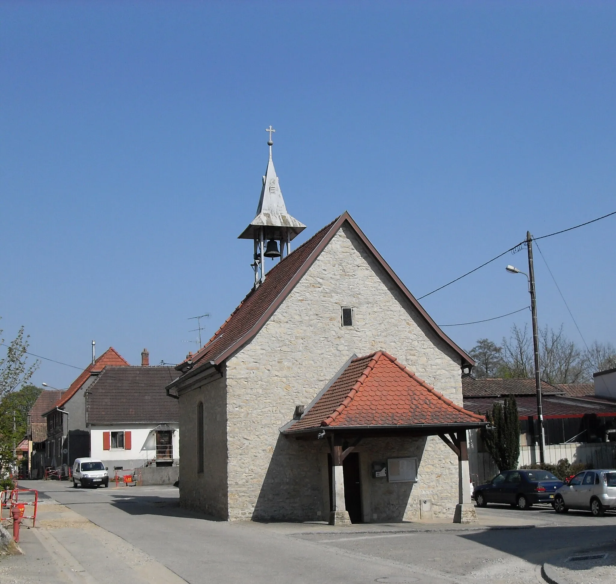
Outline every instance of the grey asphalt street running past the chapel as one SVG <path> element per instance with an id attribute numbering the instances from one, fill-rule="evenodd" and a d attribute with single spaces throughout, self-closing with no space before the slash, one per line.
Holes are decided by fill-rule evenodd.
<path id="1" fill-rule="evenodd" d="M 57 529 L 42 531 L 79 562 L 79 570 L 92 583 L 129 575 L 135 582 L 158 582 L 155 568 L 160 566 L 159 572 L 166 567 L 193 584 L 537 584 L 537 566 L 543 562 L 613 541 L 616 534 L 616 514 L 596 519 L 588 513 L 557 516 L 551 508 L 522 512 L 508 506 L 478 509 L 479 527 L 448 522 L 350 528 L 229 524 L 180 509 L 173 487 L 82 490 L 65 482 L 42 481 L 22 485 L 37 488 L 76 512 L 65 513 L 64 522 L 56 522 Z M 82 516 L 103 529 L 87 530 Z M 27 537 L 30 532 L 25 532 Z"/>

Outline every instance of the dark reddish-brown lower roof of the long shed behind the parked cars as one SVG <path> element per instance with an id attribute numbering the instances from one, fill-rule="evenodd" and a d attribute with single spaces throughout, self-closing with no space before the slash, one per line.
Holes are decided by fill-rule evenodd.
<path id="1" fill-rule="evenodd" d="M 464 397 L 464 408 L 485 415 L 486 412 L 492 412 L 494 402 L 503 402 L 503 399 L 503 397 Z M 537 399 L 534 395 L 516 395 L 516 404 L 520 418 L 528 416 L 537 418 Z M 544 396 L 541 400 L 541 410 L 546 418 L 573 418 L 586 414 L 616 416 L 616 404 L 567 395 Z"/>

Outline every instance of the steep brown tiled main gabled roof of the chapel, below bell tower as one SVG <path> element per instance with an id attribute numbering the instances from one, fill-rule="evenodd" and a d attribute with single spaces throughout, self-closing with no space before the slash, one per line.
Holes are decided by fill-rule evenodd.
<path id="1" fill-rule="evenodd" d="M 248 293 L 248 296 L 243 299 L 240 306 L 233 311 L 233 314 L 227 318 L 221 328 L 209 339 L 209 342 L 200 351 L 191 355 L 190 360 L 177 365 L 177 370 L 185 371 L 189 367 L 196 370 L 199 365 L 205 364 L 219 365 L 240 349 L 241 346 L 251 341 L 288 294 L 291 293 L 294 286 L 306 274 L 310 266 L 314 264 L 320 253 L 325 249 L 325 246 L 330 243 L 334 235 L 345 224 L 354 230 L 363 244 L 373 254 L 376 261 L 381 264 L 387 274 L 394 280 L 402 294 L 415 307 L 419 315 L 423 317 L 424 321 L 432 328 L 436 335 L 460 355 L 461 363 L 474 365 L 474 360 L 458 347 L 452 339 L 445 335 L 434 320 L 432 320 L 413 294 L 402 283 L 402 280 L 395 275 L 394 270 L 389 267 L 387 262 L 381 257 L 381 254 L 376 251 L 370 240 L 353 221 L 351 215 L 345 211 L 267 272 L 265 282 L 257 288 L 253 288 Z M 188 375 L 191 375 L 191 373 L 189 372 Z"/>

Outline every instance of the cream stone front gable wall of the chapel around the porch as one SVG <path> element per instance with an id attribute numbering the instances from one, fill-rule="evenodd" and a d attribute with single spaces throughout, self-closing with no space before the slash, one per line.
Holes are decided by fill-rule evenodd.
<path id="1" fill-rule="evenodd" d="M 341 306 L 353 307 L 353 328 L 342 328 Z M 328 505 L 325 445 L 286 439 L 278 429 L 291 420 L 295 405 L 308 404 L 352 354 L 384 349 L 462 404 L 460 357 L 421 321 L 355 233 L 341 229 L 256 338 L 227 361 L 230 519 L 318 519 L 317 513 L 323 514 Z M 418 452 L 417 444 L 404 440 L 380 444 L 370 447 L 366 464 L 373 456 L 383 460 Z M 420 472 L 422 481 L 412 495 L 407 493 L 403 515 L 418 512 L 415 498 L 424 492 L 432 498 L 435 516 L 452 515 L 458 502 L 457 460 L 439 438 L 428 439 Z M 402 491 L 400 485 L 388 489 Z M 371 505 L 381 505 L 379 489 L 374 487 Z M 391 497 L 390 491 L 383 497 Z M 365 515 L 370 512 L 364 509 Z"/>

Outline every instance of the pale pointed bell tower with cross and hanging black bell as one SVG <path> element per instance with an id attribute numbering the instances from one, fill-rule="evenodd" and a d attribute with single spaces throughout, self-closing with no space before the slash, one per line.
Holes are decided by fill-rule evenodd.
<path id="1" fill-rule="evenodd" d="M 282 198 L 272 161 L 272 132 L 275 132 L 275 129 L 270 126 L 265 131 L 269 132 L 267 145 L 270 157 L 263 177 L 257 214 L 238 237 L 254 241 L 254 262 L 251 267 L 254 270 L 255 287 L 265 280 L 265 258 L 282 259 L 283 256 L 288 256 L 291 253 L 291 240 L 306 229 L 306 225 L 286 212 L 285 200 Z"/>

